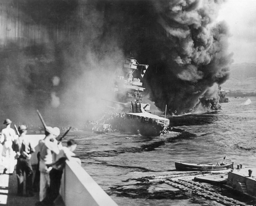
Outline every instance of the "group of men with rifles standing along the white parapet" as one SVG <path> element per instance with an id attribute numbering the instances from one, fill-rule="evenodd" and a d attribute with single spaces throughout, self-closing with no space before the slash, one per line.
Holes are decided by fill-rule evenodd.
<path id="1" fill-rule="evenodd" d="M 35 152 L 35 149 L 26 136 L 28 128 L 26 125 L 20 125 L 18 135 L 16 135 L 15 130 L 11 128 L 11 123 L 10 119 L 4 120 L 3 124 L 6 128 L 2 129 L 0 136 L 0 164 L 4 166 L 3 173 L 12 175 L 17 161 L 17 195 L 34 196 L 33 191 L 39 189 L 39 202 L 36 205 L 54 205 L 55 199 L 59 196 L 66 160 L 74 160 L 81 164 L 73 153 L 76 149 L 76 141 L 68 140 L 67 147 L 64 147 L 61 141 L 58 142 L 56 139 L 60 134 L 59 128 L 45 128 L 45 138 L 38 142 L 38 171 L 36 171 L 33 187 L 31 154 Z M 26 193 L 23 192 L 24 172 L 26 173 Z M 35 185 L 38 185 L 39 188 L 36 188 Z"/>

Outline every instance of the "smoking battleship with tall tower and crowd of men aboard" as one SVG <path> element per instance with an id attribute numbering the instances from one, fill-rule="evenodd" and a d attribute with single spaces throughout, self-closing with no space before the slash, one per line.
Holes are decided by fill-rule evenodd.
<path id="1" fill-rule="evenodd" d="M 108 130 L 108 125 L 117 131 L 140 133 L 143 136 L 159 136 L 167 132 L 170 120 L 153 115 L 150 104 L 143 102 L 143 77 L 148 66 L 139 64 L 133 57 L 126 59 L 124 75 L 117 76 L 114 82 L 117 101 L 111 102 L 114 103 L 115 111 L 112 118 L 106 119 L 104 116 L 101 122 L 96 122 L 96 126 L 91 124 L 95 133 Z"/>

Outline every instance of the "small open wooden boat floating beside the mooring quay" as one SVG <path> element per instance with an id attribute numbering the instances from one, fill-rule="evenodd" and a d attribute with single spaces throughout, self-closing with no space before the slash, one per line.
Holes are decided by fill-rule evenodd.
<path id="1" fill-rule="evenodd" d="M 233 167 L 233 162 L 225 165 L 217 164 L 190 164 L 175 162 L 176 170 L 179 171 L 206 171 L 206 170 L 227 170 Z"/>

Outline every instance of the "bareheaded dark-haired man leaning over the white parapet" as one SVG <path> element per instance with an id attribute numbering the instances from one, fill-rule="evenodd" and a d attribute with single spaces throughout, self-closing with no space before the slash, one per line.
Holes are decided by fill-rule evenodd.
<path id="1" fill-rule="evenodd" d="M 44 200 L 37 203 L 37 206 L 54 205 L 54 200 L 59 196 L 60 181 L 66 160 L 70 161 L 73 159 L 81 164 L 81 161 L 78 158 L 72 158 L 72 156 L 75 155 L 73 151 L 76 149 L 76 146 L 77 144 L 75 140 L 68 140 L 67 147 L 61 147 L 59 154 L 56 156 L 55 162 L 47 165 L 53 167 L 49 173 L 50 187 Z"/>

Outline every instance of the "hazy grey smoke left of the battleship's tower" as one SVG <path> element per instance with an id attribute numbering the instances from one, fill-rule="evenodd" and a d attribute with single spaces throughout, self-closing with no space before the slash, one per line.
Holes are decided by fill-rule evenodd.
<path id="1" fill-rule="evenodd" d="M 1 4 L 1 117 L 82 126 L 113 100 L 124 56 L 104 35 L 98 3 L 12 0 Z"/>

